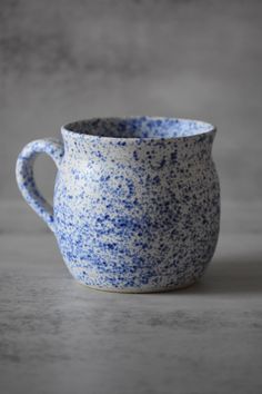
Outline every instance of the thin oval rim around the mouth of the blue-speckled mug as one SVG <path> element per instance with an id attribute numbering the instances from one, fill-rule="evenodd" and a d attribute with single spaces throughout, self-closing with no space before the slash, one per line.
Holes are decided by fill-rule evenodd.
<path id="1" fill-rule="evenodd" d="M 70 127 L 73 125 L 77 125 L 78 122 L 92 122 L 95 120 L 101 120 L 101 121 L 125 121 L 125 120 L 134 120 L 134 119 L 147 119 L 147 120 L 152 120 L 152 121 L 180 121 L 180 122 L 193 122 L 195 125 L 202 125 L 206 127 L 205 131 L 200 131 L 196 134 L 188 135 L 188 136 L 167 136 L 167 137 L 160 137 L 160 136 L 154 136 L 154 137 L 113 137 L 113 136 L 101 136 L 101 135 L 95 135 L 95 134 L 88 134 L 88 132 L 82 132 L 79 130 L 70 130 Z M 141 140 L 182 140 L 182 139 L 192 139 L 192 138 L 198 138 L 201 136 L 209 136 L 211 134 L 216 132 L 216 126 L 205 121 L 205 120 L 200 120 L 200 119 L 191 119 L 191 118 L 177 118 L 177 117 L 164 117 L 164 116 L 109 116 L 109 117 L 92 117 L 92 118 L 84 118 L 84 119 L 79 119 L 79 120 L 73 120 L 70 122 L 67 122 L 61 127 L 61 134 L 66 135 L 71 135 L 71 136 L 82 136 L 82 138 L 87 139 L 92 139 L 92 138 L 98 138 L 98 139 L 103 139 L 103 140 L 125 140 L 125 141 L 141 141 Z"/>

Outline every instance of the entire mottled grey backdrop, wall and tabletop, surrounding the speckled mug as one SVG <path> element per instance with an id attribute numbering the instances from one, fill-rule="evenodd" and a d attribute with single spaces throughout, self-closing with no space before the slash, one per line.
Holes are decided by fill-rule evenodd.
<path id="1" fill-rule="evenodd" d="M 0 0 L 0 18 L 1 393 L 262 393 L 262 1 Z M 24 144 L 135 114 L 219 128 L 221 236 L 183 292 L 78 286 L 16 186 Z M 36 166 L 51 199 L 54 164 Z"/>

